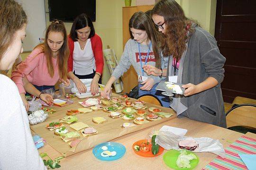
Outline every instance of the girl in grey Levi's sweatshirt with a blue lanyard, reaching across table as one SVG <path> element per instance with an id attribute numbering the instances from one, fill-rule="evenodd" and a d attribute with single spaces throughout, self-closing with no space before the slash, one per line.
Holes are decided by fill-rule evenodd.
<path id="1" fill-rule="evenodd" d="M 110 96 L 113 82 L 122 76 L 132 65 L 138 75 L 138 77 L 134 78 L 138 79 L 140 76 L 146 78 L 146 80 L 138 85 L 138 95 L 155 95 L 162 102 L 163 106 L 169 107 L 168 98 L 155 90 L 160 80 L 164 78 L 147 75 L 142 68 L 146 64 L 161 69 L 167 67 L 167 60 L 164 59 L 159 51 L 155 29 L 152 29 L 153 26 L 151 18 L 144 12 L 137 12 L 130 18 L 131 39 L 126 43 L 118 66 L 113 71 L 104 91 L 101 92 L 102 97 L 108 98 Z"/>

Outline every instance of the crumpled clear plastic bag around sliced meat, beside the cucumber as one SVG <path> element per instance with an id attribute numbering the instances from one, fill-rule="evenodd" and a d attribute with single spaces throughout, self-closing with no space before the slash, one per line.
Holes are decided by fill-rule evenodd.
<path id="1" fill-rule="evenodd" d="M 180 140 L 185 139 L 194 139 L 199 144 L 199 146 L 192 152 L 209 152 L 217 154 L 221 157 L 225 156 L 224 147 L 219 142 L 219 140 L 211 139 L 209 137 L 193 138 L 186 136 L 178 136 L 169 131 L 159 131 L 158 135 L 155 137 L 155 143 L 159 144 L 166 150 L 180 150 L 178 143 Z"/>

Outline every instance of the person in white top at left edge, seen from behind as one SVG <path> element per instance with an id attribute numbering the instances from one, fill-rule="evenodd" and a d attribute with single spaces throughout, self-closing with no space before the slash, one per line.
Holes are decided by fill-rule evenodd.
<path id="1" fill-rule="evenodd" d="M 0 70 L 8 70 L 23 51 L 27 15 L 14 0 L 0 0 Z M 33 142 L 18 88 L 0 74 L 0 170 L 46 170 Z"/>

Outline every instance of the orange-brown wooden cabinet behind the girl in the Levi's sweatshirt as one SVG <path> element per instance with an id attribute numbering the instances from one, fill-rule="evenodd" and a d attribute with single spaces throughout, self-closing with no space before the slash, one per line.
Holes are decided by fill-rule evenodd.
<path id="1" fill-rule="evenodd" d="M 126 42 L 130 39 L 129 33 L 129 20 L 135 12 L 152 9 L 154 6 L 134 6 L 134 7 L 123 7 L 123 49 L 125 47 Z M 130 90 L 135 87 L 137 82 L 137 73 L 135 69 L 130 66 L 128 71 L 122 77 L 124 83 L 124 93 L 129 93 Z"/>

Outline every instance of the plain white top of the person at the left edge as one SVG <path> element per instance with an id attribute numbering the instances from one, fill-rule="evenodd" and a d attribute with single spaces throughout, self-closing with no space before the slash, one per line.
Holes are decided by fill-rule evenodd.
<path id="1" fill-rule="evenodd" d="M 17 86 L 1 74 L 0 82 L 0 170 L 46 170 Z"/>

